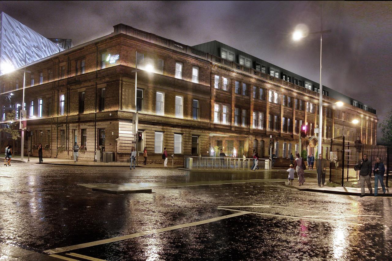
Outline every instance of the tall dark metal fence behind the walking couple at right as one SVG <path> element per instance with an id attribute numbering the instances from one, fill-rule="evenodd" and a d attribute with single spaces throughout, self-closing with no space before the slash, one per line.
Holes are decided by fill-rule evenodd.
<path id="1" fill-rule="evenodd" d="M 385 165 L 386 175 L 384 175 L 385 185 L 388 186 L 389 171 L 391 168 L 391 149 L 386 146 L 374 144 L 364 144 L 362 141 L 370 140 L 369 135 L 347 135 L 336 137 L 331 141 L 330 149 L 330 182 L 342 186 L 356 187 L 359 185 L 359 171 L 354 170 L 363 155 L 367 154 L 368 160 L 372 162 L 372 169 L 376 164 L 376 157 L 381 157 Z M 375 140 L 375 137 L 372 137 Z M 374 186 L 374 174 L 372 173 L 372 186 Z"/>

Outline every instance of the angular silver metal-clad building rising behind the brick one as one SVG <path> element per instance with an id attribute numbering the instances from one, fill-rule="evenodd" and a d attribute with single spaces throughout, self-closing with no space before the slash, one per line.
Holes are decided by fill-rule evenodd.
<path id="1" fill-rule="evenodd" d="M 8 14 L 0 13 L 0 75 L 62 50 Z"/>

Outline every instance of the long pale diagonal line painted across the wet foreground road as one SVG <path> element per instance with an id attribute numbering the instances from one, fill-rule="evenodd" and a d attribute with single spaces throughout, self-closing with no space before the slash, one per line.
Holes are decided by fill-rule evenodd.
<path id="1" fill-rule="evenodd" d="M 165 227 L 163 229 L 154 229 L 154 230 L 150 230 L 150 231 L 146 231 L 146 232 L 139 232 L 139 233 L 125 235 L 125 236 L 119 236 L 119 237 L 115 237 L 115 238 L 108 238 L 108 239 L 93 241 L 93 242 L 89 242 L 89 243 L 73 245 L 73 246 L 69 246 L 69 247 L 54 248 L 54 249 L 45 250 L 44 252 L 47 253 L 47 254 L 62 253 L 62 252 L 71 251 L 71 250 L 75 250 L 75 249 L 80 249 L 80 248 L 85 248 L 85 247 L 93 247 L 93 246 L 96 246 L 96 245 L 112 243 L 112 242 L 121 241 L 121 240 L 125 240 L 125 239 L 137 238 L 137 237 L 140 237 L 140 236 L 152 235 L 152 234 L 165 232 L 165 231 L 169 231 L 169 230 L 181 229 L 181 228 L 184 228 L 184 227 L 193 227 L 193 226 L 202 225 L 202 224 L 206 224 L 206 223 L 211 223 L 211 222 L 218 221 L 218 220 L 223 220 L 223 219 L 226 219 L 226 218 L 233 218 L 233 217 L 236 217 L 236 216 L 241 216 L 241 215 L 245 215 L 245 214 L 249 214 L 249 213 L 250 212 L 248 212 L 248 211 L 239 211 L 239 213 L 230 214 L 230 215 L 226 215 L 226 216 L 220 216 L 220 217 L 217 217 L 217 218 L 210 218 L 210 219 L 207 219 L 207 220 L 201 220 L 201 221 L 197 221 L 197 222 L 185 223 L 185 224 L 176 225 L 176 226 L 172 226 L 172 227 Z"/>

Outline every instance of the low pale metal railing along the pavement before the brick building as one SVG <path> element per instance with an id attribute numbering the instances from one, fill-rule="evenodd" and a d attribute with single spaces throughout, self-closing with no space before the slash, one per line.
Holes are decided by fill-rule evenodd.
<path id="1" fill-rule="evenodd" d="M 192 169 L 232 169 L 248 170 L 253 166 L 253 158 L 219 158 L 219 157 L 186 157 L 192 158 Z M 267 161 L 267 164 L 266 164 Z M 258 168 L 268 169 L 268 159 L 259 158 Z"/>

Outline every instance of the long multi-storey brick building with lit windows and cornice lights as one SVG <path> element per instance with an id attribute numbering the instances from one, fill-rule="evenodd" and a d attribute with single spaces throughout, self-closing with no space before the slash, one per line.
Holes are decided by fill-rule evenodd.
<path id="1" fill-rule="evenodd" d="M 176 162 L 219 149 L 240 157 L 255 149 L 267 157 L 270 135 L 276 155 L 287 158 L 298 150 L 299 120 L 309 137 L 318 126 L 317 83 L 217 41 L 190 47 L 119 24 L 112 34 L 26 65 L 25 104 L 23 69 L 0 76 L 1 106 L 3 119 L 27 110 L 33 155 L 42 143 L 44 157 L 71 158 L 76 141 L 85 148 L 81 159 L 93 160 L 103 148 L 125 161 L 136 110 L 137 150 L 147 147 L 149 162 L 162 162 L 163 147 Z M 362 142 L 374 143 L 375 110 L 323 88 L 325 103 L 345 102 L 323 111 L 323 154 L 342 135 L 342 120 L 358 119 L 345 123 L 345 134 L 368 134 Z M 311 154 L 317 144 L 303 146 Z"/>

